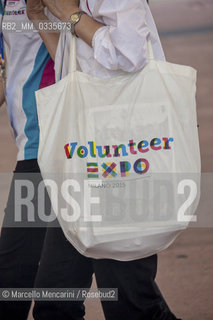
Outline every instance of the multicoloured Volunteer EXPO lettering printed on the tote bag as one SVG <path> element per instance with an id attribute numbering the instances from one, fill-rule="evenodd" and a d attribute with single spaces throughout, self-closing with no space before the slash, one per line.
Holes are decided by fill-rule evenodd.
<path id="1" fill-rule="evenodd" d="M 99 164 L 97 161 L 86 162 L 88 178 L 126 178 L 132 172 L 142 175 L 149 171 L 150 163 L 145 157 L 139 157 L 149 151 L 171 150 L 172 137 L 153 138 L 150 141 L 141 140 L 136 143 L 133 139 L 127 144 L 120 145 L 96 145 L 95 141 L 88 141 L 88 146 L 78 146 L 78 142 L 70 142 L 64 146 L 65 155 L 68 160 L 74 157 L 81 159 L 90 157 L 94 159 L 104 159 L 107 161 Z M 115 161 L 119 157 L 134 156 L 133 161 Z M 137 159 L 135 160 L 135 157 Z M 114 161 L 110 161 L 114 158 Z M 125 158 L 124 158 L 125 159 Z M 129 158 L 128 158 L 129 159 Z"/>

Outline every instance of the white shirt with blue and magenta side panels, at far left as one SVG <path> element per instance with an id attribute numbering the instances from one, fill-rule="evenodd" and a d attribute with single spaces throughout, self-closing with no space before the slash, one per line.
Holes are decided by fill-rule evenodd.
<path id="1" fill-rule="evenodd" d="M 25 0 L 6 2 L 3 22 L 29 21 Z M 3 14 L 4 13 L 4 14 Z M 36 159 L 39 144 L 35 91 L 55 82 L 54 63 L 35 32 L 3 30 L 6 68 L 6 101 L 18 147 L 18 160 Z"/>

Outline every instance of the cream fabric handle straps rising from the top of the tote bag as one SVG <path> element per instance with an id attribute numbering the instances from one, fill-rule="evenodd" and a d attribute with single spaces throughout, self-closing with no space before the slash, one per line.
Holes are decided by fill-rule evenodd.
<path id="1" fill-rule="evenodd" d="M 154 60 L 154 53 L 152 48 L 151 40 L 147 42 L 148 49 L 148 60 Z M 77 54 L 76 54 L 76 37 L 71 34 L 71 44 L 70 44 L 70 60 L 69 60 L 69 73 L 75 72 L 77 70 Z"/>

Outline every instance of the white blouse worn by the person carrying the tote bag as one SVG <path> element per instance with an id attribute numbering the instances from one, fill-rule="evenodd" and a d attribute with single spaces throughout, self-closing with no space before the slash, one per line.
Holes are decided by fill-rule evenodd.
<path id="1" fill-rule="evenodd" d="M 77 38 L 78 70 L 110 78 L 123 70 L 135 72 L 148 61 L 150 39 L 156 60 L 165 60 L 146 0 L 81 0 L 80 9 L 105 26 L 94 34 L 91 48 Z M 56 52 L 56 80 L 68 72 L 70 33 L 62 32 Z"/>

